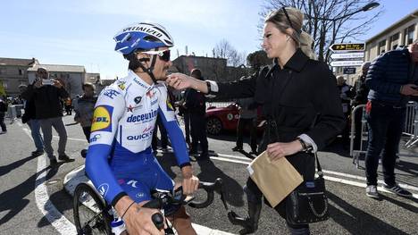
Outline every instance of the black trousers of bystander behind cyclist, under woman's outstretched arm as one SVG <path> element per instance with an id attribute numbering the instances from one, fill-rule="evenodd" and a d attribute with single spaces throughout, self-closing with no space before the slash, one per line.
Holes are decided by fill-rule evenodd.
<path id="1" fill-rule="evenodd" d="M 200 148 L 203 153 L 208 152 L 208 144 L 206 137 L 206 119 L 205 114 L 190 113 L 190 129 L 191 129 L 191 151 L 197 151 L 197 146 L 200 143 Z"/>

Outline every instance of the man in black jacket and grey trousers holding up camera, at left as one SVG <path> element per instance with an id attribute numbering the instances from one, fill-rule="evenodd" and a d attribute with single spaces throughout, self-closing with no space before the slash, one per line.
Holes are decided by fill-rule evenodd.
<path id="1" fill-rule="evenodd" d="M 69 97 L 69 94 L 59 80 L 49 79 L 49 73 L 45 68 L 39 67 L 36 76 L 34 83 L 29 85 L 21 96 L 26 100 L 33 98 L 35 102 L 35 117 L 39 120 L 44 134 L 44 150 L 48 155 L 51 167 L 58 164 L 54 156 L 54 149 L 51 146 L 53 127 L 60 137 L 58 159 L 64 162 L 72 162 L 74 159 L 65 154 L 67 131 L 63 124 L 63 106 L 60 103 L 60 99 Z"/>

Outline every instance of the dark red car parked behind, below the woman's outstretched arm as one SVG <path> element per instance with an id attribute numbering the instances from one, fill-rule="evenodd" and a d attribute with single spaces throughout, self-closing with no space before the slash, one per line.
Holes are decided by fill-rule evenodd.
<path id="1" fill-rule="evenodd" d="M 206 131 L 211 135 L 219 135 L 222 130 L 237 130 L 238 120 L 237 103 L 232 103 L 226 107 L 210 106 L 206 110 Z M 262 129 L 259 128 L 258 130 Z"/>

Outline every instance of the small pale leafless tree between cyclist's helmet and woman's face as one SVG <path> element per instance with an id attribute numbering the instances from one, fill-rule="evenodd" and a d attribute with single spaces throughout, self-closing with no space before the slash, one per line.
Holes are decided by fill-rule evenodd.
<path id="1" fill-rule="evenodd" d="M 234 46 L 231 46 L 226 39 L 222 39 L 213 48 L 214 57 L 225 58 L 228 60 L 228 65 L 237 67 L 246 63 L 246 53 L 239 53 Z"/>

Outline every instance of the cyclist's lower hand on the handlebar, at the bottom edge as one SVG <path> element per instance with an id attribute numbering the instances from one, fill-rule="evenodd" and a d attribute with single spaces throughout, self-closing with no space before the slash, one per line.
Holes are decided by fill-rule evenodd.
<path id="1" fill-rule="evenodd" d="M 121 216 L 131 203 L 132 200 L 130 197 L 122 197 L 115 206 L 118 214 Z M 130 206 L 128 211 L 126 211 L 125 216 L 123 216 L 126 229 L 130 234 L 163 235 L 164 231 L 158 231 L 151 219 L 153 214 L 160 213 L 160 211 L 157 209 L 141 207 L 144 204 L 146 204 L 146 201 L 139 204 L 135 203 Z"/>

